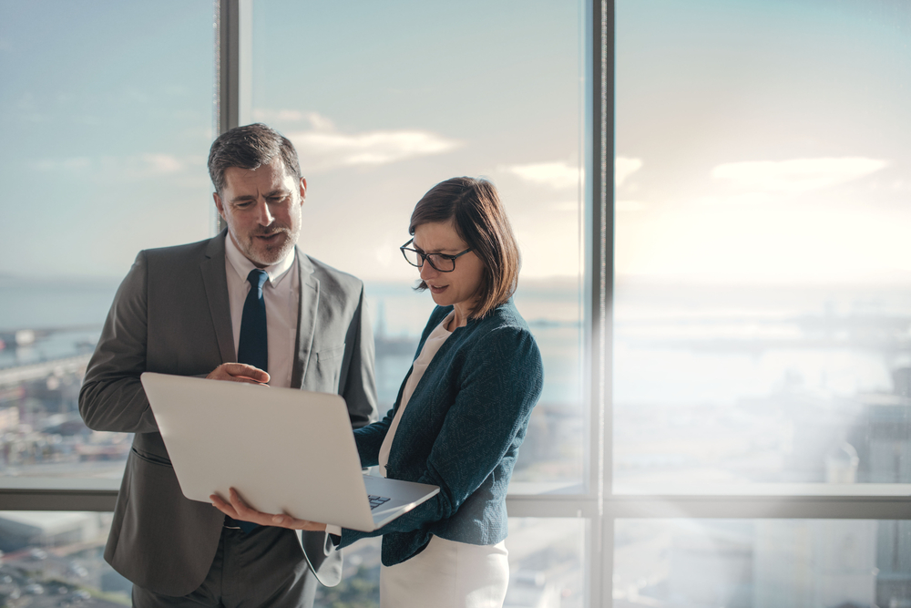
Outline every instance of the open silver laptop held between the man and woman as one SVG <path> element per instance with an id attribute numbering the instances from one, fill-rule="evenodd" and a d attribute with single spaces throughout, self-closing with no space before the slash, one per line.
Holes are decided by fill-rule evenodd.
<path id="1" fill-rule="evenodd" d="M 189 500 L 374 531 L 434 496 L 423 483 L 363 475 L 343 397 L 144 373 L 142 386 Z"/>

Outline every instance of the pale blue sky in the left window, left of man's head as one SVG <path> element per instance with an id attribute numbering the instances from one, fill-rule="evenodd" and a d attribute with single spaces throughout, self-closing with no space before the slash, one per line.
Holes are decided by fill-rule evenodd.
<path id="1" fill-rule="evenodd" d="M 0 3 L 0 273 L 117 276 L 210 232 L 211 4 Z"/>

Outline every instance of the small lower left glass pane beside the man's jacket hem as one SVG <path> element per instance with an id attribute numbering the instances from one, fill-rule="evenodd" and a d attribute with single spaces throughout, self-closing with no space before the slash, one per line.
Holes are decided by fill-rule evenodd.
<path id="1" fill-rule="evenodd" d="M 112 517 L 82 511 L 0 511 L 3 605 L 130 605 L 132 585 L 103 557 Z"/>

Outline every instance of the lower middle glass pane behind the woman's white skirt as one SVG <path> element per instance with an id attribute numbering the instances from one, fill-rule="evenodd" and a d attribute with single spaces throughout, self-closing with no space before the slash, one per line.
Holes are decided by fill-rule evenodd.
<path id="1" fill-rule="evenodd" d="M 582 608 L 582 555 L 586 520 L 510 518 L 509 588 L 504 608 Z M 320 587 L 316 603 L 375 608 L 380 605 L 380 539 L 344 550 L 343 580 Z"/>

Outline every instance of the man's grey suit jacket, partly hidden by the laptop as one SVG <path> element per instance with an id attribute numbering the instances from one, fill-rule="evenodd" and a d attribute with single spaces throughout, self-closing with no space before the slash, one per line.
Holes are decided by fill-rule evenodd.
<path id="1" fill-rule="evenodd" d="M 300 250 L 297 256 L 301 297 L 292 386 L 339 393 L 352 427 L 363 427 L 376 419 L 374 339 L 363 283 Z M 139 252 L 88 364 L 79 410 L 88 428 L 136 433 L 105 559 L 150 591 L 186 595 L 200 585 L 224 516 L 180 492 L 139 375 L 205 376 L 234 361 L 225 232 Z M 328 536 L 305 532 L 299 538 L 320 580 L 337 583 L 342 558 Z"/>

